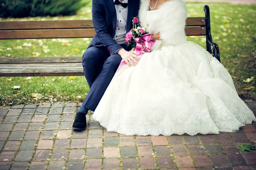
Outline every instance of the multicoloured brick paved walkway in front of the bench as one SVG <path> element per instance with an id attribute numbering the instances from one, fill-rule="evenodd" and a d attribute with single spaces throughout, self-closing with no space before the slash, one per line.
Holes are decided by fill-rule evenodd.
<path id="1" fill-rule="evenodd" d="M 247 100 L 256 113 L 256 102 Z M 123 136 L 87 115 L 88 128 L 70 127 L 78 106 L 16 105 L 0 109 L 0 170 L 256 170 L 256 123 L 237 133 L 198 136 Z"/>

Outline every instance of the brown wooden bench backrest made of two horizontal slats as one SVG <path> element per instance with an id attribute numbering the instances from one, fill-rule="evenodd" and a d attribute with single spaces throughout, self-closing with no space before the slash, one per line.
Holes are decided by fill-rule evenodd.
<path id="1" fill-rule="evenodd" d="M 185 28 L 186 35 L 206 35 L 205 26 L 205 17 L 187 18 Z M 95 34 L 92 20 L 0 22 L 0 40 L 91 38 Z"/>

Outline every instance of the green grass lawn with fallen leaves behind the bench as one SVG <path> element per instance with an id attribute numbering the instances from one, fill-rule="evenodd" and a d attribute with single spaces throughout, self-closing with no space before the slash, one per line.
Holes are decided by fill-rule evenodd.
<path id="1" fill-rule="evenodd" d="M 204 16 L 205 3 L 187 3 L 189 17 Z M 256 99 L 256 82 L 243 79 L 256 76 L 256 5 L 209 3 L 212 36 L 218 43 L 221 62 L 233 77 L 241 97 Z M 85 20 L 91 19 L 91 6 L 74 16 L 3 19 Z M 188 37 L 205 47 L 205 37 Z M 90 39 L 0 40 L 0 57 L 82 56 Z M 20 88 L 14 89 L 14 86 Z M 0 77 L 0 105 L 40 102 L 82 102 L 89 87 L 84 77 Z M 34 99 L 34 94 L 44 96 Z M 40 96 L 40 95 L 39 95 Z M 153 96 L 152 96 L 153 97 Z"/>

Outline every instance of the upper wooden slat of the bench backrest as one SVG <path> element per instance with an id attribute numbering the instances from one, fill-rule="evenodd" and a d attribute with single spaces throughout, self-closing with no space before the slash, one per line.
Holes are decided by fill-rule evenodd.
<path id="1" fill-rule="evenodd" d="M 203 20 L 203 21 L 202 21 Z M 189 17 L 186 26 L 205 26 L 204 17 Z M 3 21 L 0 30 L 94 28 L 92 20 Z"/>

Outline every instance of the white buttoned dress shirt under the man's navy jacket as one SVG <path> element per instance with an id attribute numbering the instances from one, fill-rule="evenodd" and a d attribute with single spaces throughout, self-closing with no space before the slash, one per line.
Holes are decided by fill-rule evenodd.
<path id="1" fill-rule="evenodd" d="M 121 3 L 128 3 L 128 0 L 124 0 Z M 115 8 L 116 8 L 116 31 L 115 31 L 114 40 L 116 40 L 118 44 L 125 44 L 128 6 L 124 8 L 121 5 L 115 5 Z"/>

